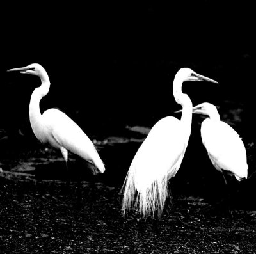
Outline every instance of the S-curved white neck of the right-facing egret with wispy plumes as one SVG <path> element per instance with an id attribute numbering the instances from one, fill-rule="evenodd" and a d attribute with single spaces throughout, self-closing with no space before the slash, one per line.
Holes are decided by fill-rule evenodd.
<path id="1" fill-rule="evenodd" d="M 175 76 L 173 81 L 173 96 L 178 104 L 182 106 L 182 115 L 180 123 L 184 129 L 184 138 L 189 139 L 192 123 L 192 102 L 188 95 L 182 93 L 183 80 Z"/>

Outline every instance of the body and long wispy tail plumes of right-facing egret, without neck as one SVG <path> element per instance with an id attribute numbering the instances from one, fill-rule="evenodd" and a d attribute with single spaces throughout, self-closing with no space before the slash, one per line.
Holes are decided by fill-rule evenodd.
<path id="1" fill-rule="evenodd" d="M 182 125 L 177 118 L 168 116 L 152 127 L 132 160 L 124 183 L 122 209 L 139 205 L 140 213 L 147 216 L 155 209 L 163 210 L 168 179 L 180 168 L 188 145 L 182 136 Z"/>

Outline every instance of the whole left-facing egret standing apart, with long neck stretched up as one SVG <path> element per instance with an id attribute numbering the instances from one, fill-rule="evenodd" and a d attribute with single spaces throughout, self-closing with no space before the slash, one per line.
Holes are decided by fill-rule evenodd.
<path id="1" fill-rule="evenodd" d="M 29 104 L 29 120 L 36 138 L 61 151 L 67 170 L 68 151 L 70 151 L 90 163 L 93 173 L 103 173 L 105 170 L 104 163 L 92 141 L 71 118 L 53 108 L 47 109 L 41 115 L 40 100 L 47 95 L 50 88 L 49 76 L 45 69 L 38 63 L 33 63 L 27 67 L 8 70 L 8 72 L 14 71 L 36 75 L 41 79 L 41 86 L 35 88 Z"/>

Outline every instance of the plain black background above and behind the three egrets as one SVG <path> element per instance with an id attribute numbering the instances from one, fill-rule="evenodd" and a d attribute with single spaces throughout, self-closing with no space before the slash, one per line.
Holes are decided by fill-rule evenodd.
<path id="1" fill-rule="evenodd" d="M 28 106 L 40 80 L 6 70 L 40 63 L 51 80 L 42 111 L 60 108 L 88 136 L 118 135 L 125 125 L 152 127 L 172 115 L 180 109 L 173 77 L 189 67 L 220 83 L 185 83 L 193 104 L 212 102 L 220 113 L 239 106 L 243 114 L 234 127 L 245 143 L 255 140 L 255 13 L 249 1 L 2 7 L 0 128 L 8 136 L 19 136 L 20 129 L 36 142 Z"/>

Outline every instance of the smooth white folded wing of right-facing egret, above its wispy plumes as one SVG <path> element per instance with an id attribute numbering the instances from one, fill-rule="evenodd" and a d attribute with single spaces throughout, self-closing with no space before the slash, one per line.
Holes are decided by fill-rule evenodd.
<path id="1" fill-rule="evenodd" d="M 187 145 L 182 142 L 180 128 L 180 121 L 174 117 L 163 118 L 154 125 L 131 164 L 136 189 L 147 188 L 154 180 L 175 176 Z"/>

